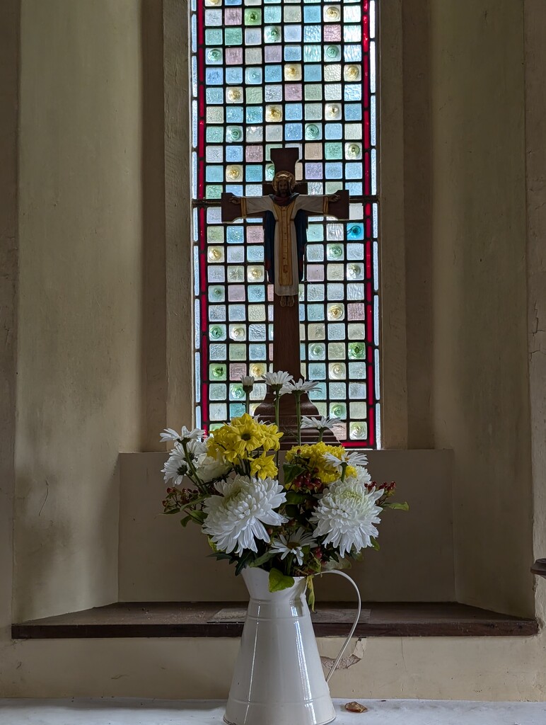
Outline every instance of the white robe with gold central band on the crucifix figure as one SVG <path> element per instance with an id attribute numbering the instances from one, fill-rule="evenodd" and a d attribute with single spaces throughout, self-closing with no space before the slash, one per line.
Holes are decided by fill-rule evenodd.
<path id="1" fill-rule="evenodd" d="M 245 196 L 241 199 L 241 216 L 272 212 L 275 218 L 274 291 L 280 295 L 298 294 L 298 244 L 295 236 L 295 215 L 300 211 L 316 215 L 328 213 L 327 196 L 298 194 L 293 202 L 280 206 L 271 196 Z"/>

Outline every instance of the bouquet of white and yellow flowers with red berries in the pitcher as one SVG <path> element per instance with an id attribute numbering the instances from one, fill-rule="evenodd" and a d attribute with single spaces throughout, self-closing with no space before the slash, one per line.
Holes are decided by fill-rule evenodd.
<path id="1" fill-rule="evenodd" d="M 382 511 L 408 505 L 391 501 L 394 483 L 371 480 L 362 452 L 323 442 L 335 418 L 302 418 L 301 395 L 314 382 L 293 381 L 287 373 L 266 373 L 264 381 L 274 394 L 277 424 L 249 415 L 255 381 L 245 377 L 247 413 L 240 418 L 208 436 L 198 428 L 161 434 L 174 443 L 162 469 L 172 482 L 164 513 L 182 514 L 182 526 L 198 523 L 212 555 L 235 563 L 236 574 L 245 567 L 269 572 L 270 592 L 306 577 L 312 606 L 313 576 L 350 566 L 366 547 L 378 549 Z M 285 394 L 295 396 L 299 443 L 286 452 L 280 471 L 278 410 Z M 316 443 L 301 444 L 302 427 L 316 429 Z"/>

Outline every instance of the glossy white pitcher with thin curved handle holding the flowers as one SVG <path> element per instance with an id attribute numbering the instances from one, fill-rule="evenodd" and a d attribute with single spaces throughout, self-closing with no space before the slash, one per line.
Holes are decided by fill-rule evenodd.
<path id="1" fill-rule="evenodd" d="M 342 571 L 325 571 L 348 579 Z M 293 587 L 269 592 L 269 572 L 243 570 L 248 611 L 227 700 L 228 725 L 325 725 L 335 719 L 327 681 L 340 662 L 358 624 L 358 613 L 327 679 L 306 602 L 306 579 Z"/>

